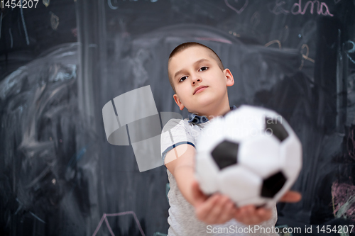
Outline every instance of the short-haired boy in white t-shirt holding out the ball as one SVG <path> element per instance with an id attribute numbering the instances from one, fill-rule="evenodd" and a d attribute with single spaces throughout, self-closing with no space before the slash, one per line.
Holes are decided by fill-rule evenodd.
<path id="1" fill-rule="evenodd" d="M 180 110 L 189 111 L 188 119 L 169 120 L 161 135 L 162 157 L 170 182 L 168 235 L 238 235 L 239 227 L 243 228 L 239 235 L 266 235 L 265 230 L 253 230 L 248 225 L 274 227 L 276 206 L 236 208 L 227 196 L 205 196 L 194 176 L 195 140 L 209 120 L 231 109 L 227 87 L 234 84 L 234 78 L 230 70 L 224 69 L 209 47 L 183 43 L 170 54 L 168 76 L 175 102 Z M 300 194 L 290 191 L 282 200 L 299 201 Z M 273 231 L 269 235 L 277 234 Z"/>

